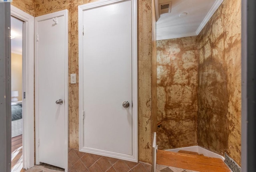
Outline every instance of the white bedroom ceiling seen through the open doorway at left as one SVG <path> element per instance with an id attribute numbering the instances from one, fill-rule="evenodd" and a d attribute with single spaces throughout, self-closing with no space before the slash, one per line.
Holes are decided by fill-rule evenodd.
<path id="1" fill-rule="evenodd" d="M 22 26 L 23 26 L 22 21 L 14 17 L 11 17 L 11 51 L 12 53 L 22 54 Z"/>

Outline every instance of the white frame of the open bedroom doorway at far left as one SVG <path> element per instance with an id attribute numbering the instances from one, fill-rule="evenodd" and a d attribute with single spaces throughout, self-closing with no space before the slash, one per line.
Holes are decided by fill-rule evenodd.
<path id="1" fill-rule="evenodd" d="M 34 166 L 34 17 L 11 5 L 11 16 L 24 22 L 22 37 L 23 99 L 23 168 Z M 23 93 L 22 93 L 23 94 Z M 23 97 L 23 96 L 22 96 Z"/>

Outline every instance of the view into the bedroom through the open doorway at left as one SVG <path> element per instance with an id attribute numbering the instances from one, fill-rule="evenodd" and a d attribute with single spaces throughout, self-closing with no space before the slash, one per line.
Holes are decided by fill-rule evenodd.
<path id="1" fill-rule="evenodd" d="M 23 24 L 23 21 L 11 16 L 12 172 L 20 172 L 23 168 Z"/>

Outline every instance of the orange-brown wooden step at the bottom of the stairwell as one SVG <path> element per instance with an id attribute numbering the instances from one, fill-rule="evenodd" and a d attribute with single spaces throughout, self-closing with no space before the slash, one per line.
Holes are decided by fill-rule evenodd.
<path id="1" fill-rule="evenodd" d="M 156 164 L 200 172 L 231 172 L 219 158 L 157 150 Z"/>

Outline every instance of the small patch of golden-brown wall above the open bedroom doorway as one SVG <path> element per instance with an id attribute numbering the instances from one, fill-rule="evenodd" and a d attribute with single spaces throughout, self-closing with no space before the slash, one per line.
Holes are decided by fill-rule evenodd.
<path id="1" fill-rule="evenodd" d="M 35 16 L 35 0 L 12 0 L 11 5 L 20 10 Z"/>

